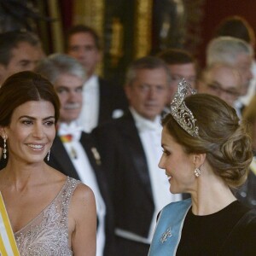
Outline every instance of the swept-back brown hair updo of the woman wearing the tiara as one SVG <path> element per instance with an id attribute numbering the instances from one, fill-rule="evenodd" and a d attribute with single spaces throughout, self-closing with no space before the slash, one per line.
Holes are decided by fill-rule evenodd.
<path id="1" fill-rule="evenodd" d="M 239 187 L 247 178 L 253 159 L 248 127 L 238 119 L 236 110 L 217 96 L 195 94 L 185 98 L 199 128 L 199 137 L 183 130 L 169 113 L 162 120 L 170 135 L 187 154 L 207 154 L 213 172 L 230 188 Z"/>

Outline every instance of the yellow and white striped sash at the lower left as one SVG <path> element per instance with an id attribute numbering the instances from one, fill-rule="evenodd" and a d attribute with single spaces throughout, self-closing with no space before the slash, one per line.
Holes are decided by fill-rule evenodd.
<path id="1" fill-rule="evenodd" d="M 16 245 L 15 236 L 9 223 L 8 214 L 3 203 L 0 192 L 0 255 L 1 256 L 20 256 Z"/>

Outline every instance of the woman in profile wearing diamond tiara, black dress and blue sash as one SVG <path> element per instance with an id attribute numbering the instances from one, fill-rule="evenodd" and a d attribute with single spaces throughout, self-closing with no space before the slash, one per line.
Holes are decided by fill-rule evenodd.
<path id="1" fill-rule="evenodd" d="M 172 193 L 191 199 L 160 212 L 148 255 L 255 255 L 256 213 L 230 189 L 247 178 L 252 143 L 236 111 L 216 96 L 185 98 L 178 85 L 171 113 L 162 120 L 160 168 Z"/>

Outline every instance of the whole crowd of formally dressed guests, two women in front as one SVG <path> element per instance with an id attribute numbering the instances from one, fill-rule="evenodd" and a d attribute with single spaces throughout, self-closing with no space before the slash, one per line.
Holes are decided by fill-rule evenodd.
<path id="1" fill-rule="evenodd" d="M 254 43 L 230 17 L 202 70 L 166 49 L 121 86 L 96 74 L 88 26 L 48 56 L 32 32 L 1 34 L 0 190 L 20 255 L 253 255 Z"/>

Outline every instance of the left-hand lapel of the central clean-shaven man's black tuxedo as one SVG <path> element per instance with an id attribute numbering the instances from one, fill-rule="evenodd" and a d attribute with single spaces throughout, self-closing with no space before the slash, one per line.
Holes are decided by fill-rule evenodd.
<path id="1" fill-rule="evenodd" d="M 127 154 L 131 155 L 133 166 L 135 166 L 137 177 L 143 183 L 143 188 L 147 190 L 150 198 L 153 198 L 150 177 L 148 172 L 148 163 L 144 153 L 143 144 L 138 135 L 134 119 L 131 113 L 123 117 L 123 122 L 119 123 L 119 129 L 124 138 Z"/>

